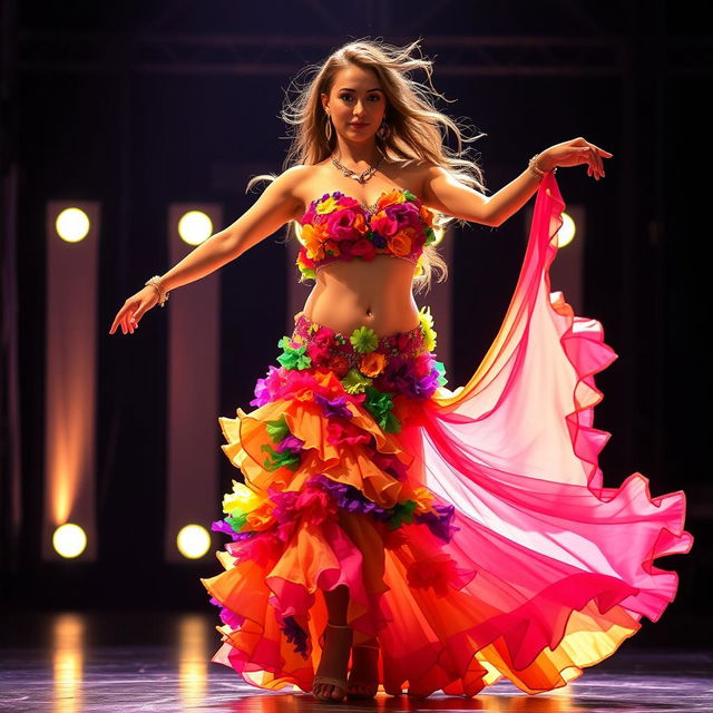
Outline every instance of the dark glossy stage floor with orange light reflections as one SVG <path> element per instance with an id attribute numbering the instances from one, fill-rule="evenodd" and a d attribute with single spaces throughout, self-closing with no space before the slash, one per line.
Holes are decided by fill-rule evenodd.
<path id="1" fill-rule="evenodd" d="M 212 613 L 211 613 L 212 614 Z M 56 614 L 0 623 L 0 711 L 713 712 L 713 649 L 652 651 L 625 642 L 565 688 L 530 696 L 501 681 L 472 699 L 380 694 L 322 703 L 302 691 L 264 692 L 209 658 L 215 618 L 197 614 Z"/>

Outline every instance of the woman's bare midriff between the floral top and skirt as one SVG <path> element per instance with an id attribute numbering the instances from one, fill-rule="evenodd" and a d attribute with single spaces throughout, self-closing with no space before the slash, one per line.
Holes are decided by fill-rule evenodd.
<path id="1" fill-rule="evenodd" d="M 419 325 L 412 294 L 414 264 L 390 255 L 324 265 L 304 303 L 304 315 L 338 332 L 371 328 L 379 336 L 409 332 Z"/>

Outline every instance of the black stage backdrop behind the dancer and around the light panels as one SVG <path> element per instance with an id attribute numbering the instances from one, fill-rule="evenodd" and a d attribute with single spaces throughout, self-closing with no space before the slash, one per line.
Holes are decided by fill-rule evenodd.
<path id="1" fill-rule="evenodd" d="M 287 141 L 283 92 L 306 64 L 350 39 L 423 38 L 436 87 L 486 137 L 489 193 L 536 152 L 584 136 L 611 150 L 600 182 L 557 174 L 586 207 L 582 314 L 619 354 L 597 375 L 595 426 L 613 433 L 605 486 L 639 471 L 652 496 L 683 489 L 691 555 L 657 565 L 681 576 L 676 600 L 641 644 L 707 644 L 713 518 L 707 355 L 711 94 L 707 25 L 681 2 L 361 1 L 2 3 L 2 172 L 19 169 L 22 502 L 20 537 L 2 504 L 3 608 L 211 609 L 197 563 L 163 561 L 167 322 L 155 311 L 138 339 L 108 328 L 124 300 L 167 263 L 165 208 L 219 202 L 225 225 L 251 204 L 251 175 L 279 172 Z M 489 39 L 489 43 L 484 40 Z M 97 511 L 99 561 L 40 559 L 43 453 L 45 206 L 101 203 Z M 531 203 L 528 204 L 531 206 Z M 3 209 L 10 206 L 7 196 Z M 225 225 L 219 226 L 221 228 Z M 451 388 L 475 371 L 505 315 L 524 256 L 525 211 L 498 229 L 455 237 Z M 3 227 L 4 231 L 4 227 Z M 285 324 L 296 272 L 263 241 L 223 268 L 221 413 L 253 398 Z M 553 285 L 556 289 L 556 285 Z M 428 295 L 417 297 L 428 303 Z M 7 345 L 6 345 L 7 349 Z M 3 404 L 3 409 L 6 404 Z M 4 411 L 3 411 L 4 412 Z M 217 414 L 216 414 L 217 416 Z M 2 437 L 6 436 L 3 427 Z M 3 441 L 4 442 L 4 441 Z M 219 449 L 229 489 L 235 469 Z M 4 467 L 4 459 L 2 462 Z M 7 471 L 3 469 L 3 494 Z M 216 502 L 216 519 L 221 516 Z"/>

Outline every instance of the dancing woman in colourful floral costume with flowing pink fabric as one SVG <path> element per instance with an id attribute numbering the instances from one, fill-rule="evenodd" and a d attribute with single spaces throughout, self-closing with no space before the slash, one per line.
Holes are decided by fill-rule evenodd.
<path id="1" fill-rule="evenodd" d="M 297 267 L 315 285 L 257 408 L 218 419 L 245 484 L 213 526 L 234 540 L 217 553 L 225 572 L 202 582 L 224 624 L 213 661 L 322 701 L 380 685 L 475 695 L 504 675 L 528 693 L 563 686 L 661 615 L 676 575 L 652 561 L 692 541 L 683 492 L 654 502 L 639 473 L 602 487 L 593 374 L 613 352 L 596 321 L 550 300 L 554 172 L 584 164 L 598 180 L 612 154 L 550 146 L 486 197 L 479 168 L 443 145 L 458 127 L 410 78 L 430 77 L 417 49 L 358 41 L 330 56 L 286 114 L 294 165 L 110 330 L 133 333 L 170 290 L 300 224 Z M 499 226 L 538 188 L 500 333 L 450 392 L 412 295 L 445 272 L 434 228 Z"/>

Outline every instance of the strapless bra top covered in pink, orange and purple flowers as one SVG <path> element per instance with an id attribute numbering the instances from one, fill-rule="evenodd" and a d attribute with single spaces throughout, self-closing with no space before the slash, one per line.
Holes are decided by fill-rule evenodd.
<path id="1" fill-rule="evenodd" d="M 391 255 L 416 263 L 423 246 L 436 240 L 433 213 L 404 188 L 382 193 L 371 207 L 339 191 L 325 193 L 312 201 L 300 225 L 300 282 L 340 260 Z"/>

